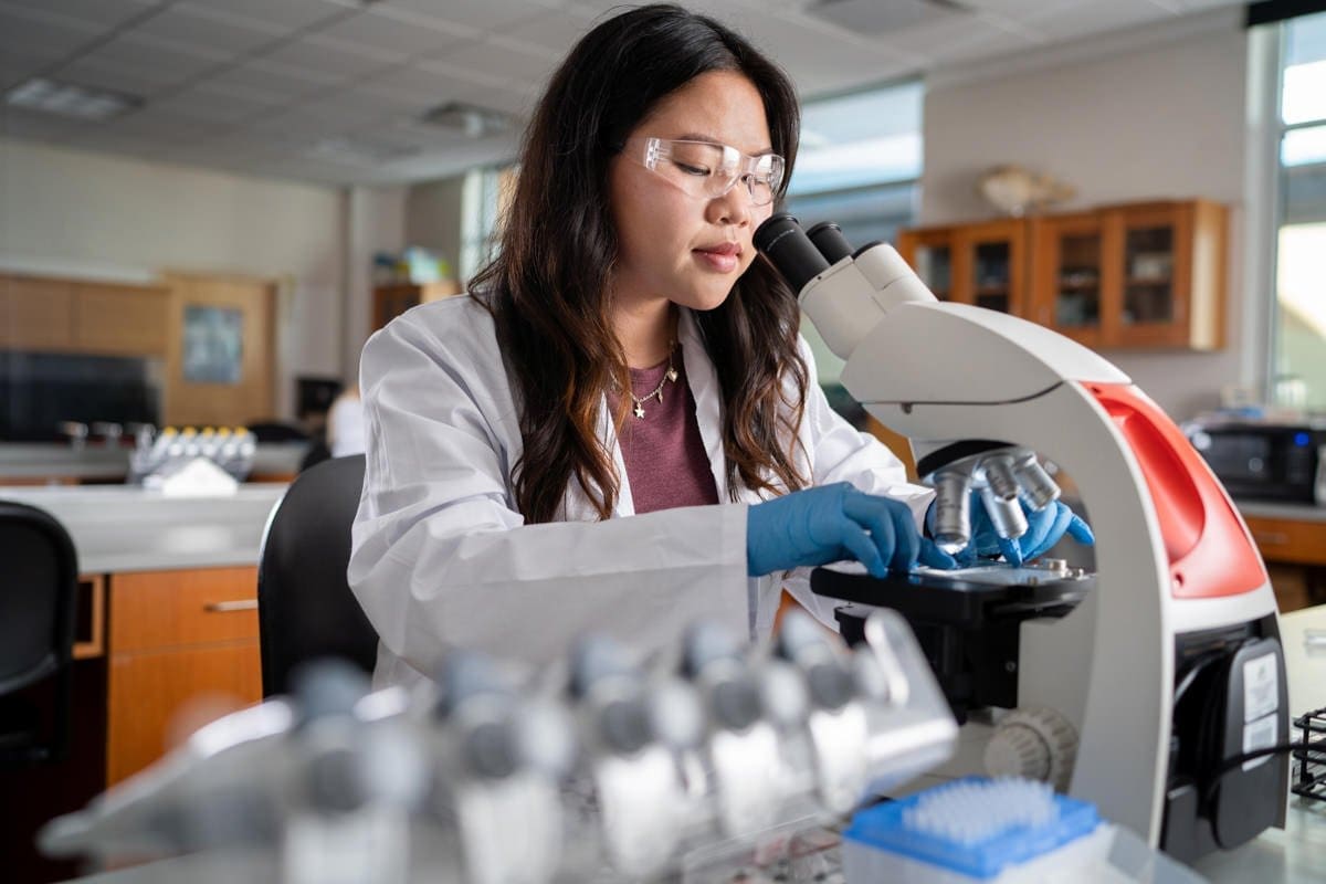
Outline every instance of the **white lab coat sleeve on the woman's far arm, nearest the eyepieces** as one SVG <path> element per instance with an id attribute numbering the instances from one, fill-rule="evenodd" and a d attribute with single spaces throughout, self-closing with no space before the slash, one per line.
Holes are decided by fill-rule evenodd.
<path id="1" fill-rule="evenodd" d="M 812 482 L 829 485 L 846 481 L 870 494 L 900 500 L 911 508 L 916 530 L 922 531 L 935 492 L 908 482 L 907 468 L 883 443 L 870 433 L 858 432 L 829 406 L 819 387 L 814 355 L 805 339 L 801 341 L 801 357 L 810 370 L 801 439 L 810 460 Z M 782 586 L 818 620 L 837 628 L 833 608 L 841 603 L 821 599 L 810 591 L 810 569 L 789 571 Z"/>

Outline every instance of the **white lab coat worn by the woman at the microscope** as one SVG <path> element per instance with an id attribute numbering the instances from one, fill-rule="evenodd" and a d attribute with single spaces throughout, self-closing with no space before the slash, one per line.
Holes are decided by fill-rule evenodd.
<path id="1" fill-rule="evenodd" d="M 700 436 L 727 501 L 717 378 L 684 309 L 678 333 Z M 801 347 L 812 367 L 802 474 L 904 500 L 919 524 L 932 493 L 908 485 L 887 448 L 829 408 L 810 350 Z M 635 516 L 606 403 L 599 431 L 621 477 L 613 518 L 598 521 L 573 482 L 564 521 L 525 525 L 511 477 L 522 451 L 516 402 L 492 318 L 472 298 L 422 305 L 374 334 L 361 390 L 367 473 L 349 580 L 381 636 L 375 687 L 418 681 L 456 645 L 548 665 L 564 661 L 587 631 L 642 653 L 675 648 L 697 619 L 756 637 L 770 631 L 782 587 L 833 626 L 833 606 L 810 592 L 809 570 L 747 577 L 747 505 L 756 494 Z"/>

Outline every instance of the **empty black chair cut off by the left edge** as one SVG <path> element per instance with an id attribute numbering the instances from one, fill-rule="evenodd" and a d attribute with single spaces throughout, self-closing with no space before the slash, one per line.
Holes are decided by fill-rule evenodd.
<path id="1" fill-rule="evenodd" d="M 78 557 L 49 513 L 0 501 L 0 763 L 61 761 L 69 750 Z M 33 697 L 28 688 L 48 679 L 49 701 Z"/>

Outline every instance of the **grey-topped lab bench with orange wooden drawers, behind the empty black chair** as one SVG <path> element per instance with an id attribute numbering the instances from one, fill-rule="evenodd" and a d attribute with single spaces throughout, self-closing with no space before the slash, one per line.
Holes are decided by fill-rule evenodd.
<path id="1" fill-rule="evenodd" d="M 159 758 L 182 713 L 198 726 L 261 698 L 259 549 L 285 488 L 184 498 L 126 486 L 0 486 L 0 498 L 46 510 L 73 539 L 74 677 L 103 680 L 101 787 Z M 210 712 L 199 706 L 208 697 Z M 76 740 L 91 738 L 88 718 L 74 709 Z"/>

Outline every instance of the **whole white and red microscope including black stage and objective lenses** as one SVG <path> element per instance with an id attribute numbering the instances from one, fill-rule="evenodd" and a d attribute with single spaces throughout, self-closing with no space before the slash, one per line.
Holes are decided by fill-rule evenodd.
<path id="1" fill-rule="evenodd" d="M 1017 317 L 940 302 L 887 244 L 774 215 L 756 248 L 846 367 L 842 383 L 907 436 L 945 551 L 979 492 L 1004 538 L 1071 476 L 1095 569 L 989 562 L 876 579 L 819 569 L 853 640 L 906 616 L 965 722 L 945 773 L 1053 782 L 1180 860 L 1284 824 L 1289 738 L 1276 599 L 1228 494 L 1179 428 L 1106 359 Z M 1026 509 L 1024 509 L 1024 506 Z M 965 770 L 964 770 L 965 767 Z"/>

